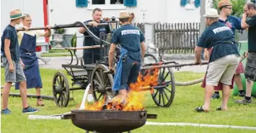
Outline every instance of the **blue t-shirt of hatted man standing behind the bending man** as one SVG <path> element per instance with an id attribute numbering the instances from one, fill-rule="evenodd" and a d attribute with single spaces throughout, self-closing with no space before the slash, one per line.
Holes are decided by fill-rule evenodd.
<path id="1" fill-rule="evenodd" d="M 235 30 L 239 29 L 242 30 L 241 27 L 241 19 L 238 17 L 234 17 L 234 16 L 228 16 L 226 18 L 225 21 L 219 19 L 219 22 L 221 22 L 222 24 L 225 24 L 227 27 L 229 27 L 230 29 L 232 29 L 232 32 L 235 34 Z"/>

